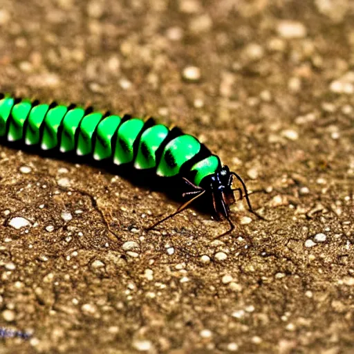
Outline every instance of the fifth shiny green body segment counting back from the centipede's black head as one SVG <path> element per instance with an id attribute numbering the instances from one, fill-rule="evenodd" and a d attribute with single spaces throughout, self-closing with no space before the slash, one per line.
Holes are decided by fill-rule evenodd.
<path id="1" fill-rule="evenodd" d="M 102 160 L 112 156 L 112 138 L 120 121 L 121 118 L 118 115 L 109 115 L 98 124 L 95 151 L 93 151 L 95 160 Z"/>

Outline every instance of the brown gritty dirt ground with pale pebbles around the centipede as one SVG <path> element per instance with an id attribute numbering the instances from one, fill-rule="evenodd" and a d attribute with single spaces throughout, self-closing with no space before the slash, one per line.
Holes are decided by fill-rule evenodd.
<path id="1" fill-rule="evenodd" d="M 354 353 L 351 0 L 0 0 L 0 91 L 153 115 L 248 185 L 238 227 L 0 147 L 0 353 Z"/>

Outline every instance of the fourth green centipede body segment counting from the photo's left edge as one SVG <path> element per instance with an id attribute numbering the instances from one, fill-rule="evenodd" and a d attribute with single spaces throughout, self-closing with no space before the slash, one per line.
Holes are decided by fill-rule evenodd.
<path id="1" fill-rule="evenodd" d="M 49 150 L 57 147 L 58 129 L 67 111 L 68 108 L 66 106 L 56 106 L 46 114 L 43 137 L 41 138 L 42 149 Z"/>

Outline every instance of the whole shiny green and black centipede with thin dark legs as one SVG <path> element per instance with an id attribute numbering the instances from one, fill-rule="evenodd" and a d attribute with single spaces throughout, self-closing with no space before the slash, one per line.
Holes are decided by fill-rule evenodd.
<path id="1" fill-rule="evenodd" d="M 234 229 L 230 205 L 235 202 L 235 191 L 239 192 L 239 198 L 245 196 L 250 212 L 256 214 L 238 174 L 221 165 L 220 158 L 194 136 L 177 127 L 169 129 L 153 118 L 120 117 L 93 111 L 92 107 L 84 109 L 57 102 L 41 104 L 37 100 L 0 94 L 0 138 L 43 150 L 106 160 L 113 165 L 131 165 L 135 169 L 154 171 L 161 178 L 183 179 L 191 189 L 183 197 L 189 199 L 149 229 L 203 196 L 216 219 L 226 219 L 230 224 L 230 229 L 220 236 L 228 234 Z M 234 178 L 242 188 L 232 188 Z"/>

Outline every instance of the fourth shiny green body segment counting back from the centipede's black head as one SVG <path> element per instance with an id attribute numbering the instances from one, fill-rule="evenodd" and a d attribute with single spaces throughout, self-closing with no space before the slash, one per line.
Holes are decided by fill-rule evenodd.
<path id="1" fill-rule="evenodd" d="M 115 165 L 133 161 L 133 144 L 143 126 L 144 122 L 138 118 L 127 120 L 120 126 L 114 152 Z"/>

